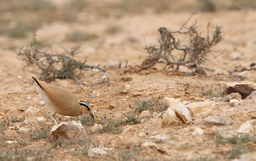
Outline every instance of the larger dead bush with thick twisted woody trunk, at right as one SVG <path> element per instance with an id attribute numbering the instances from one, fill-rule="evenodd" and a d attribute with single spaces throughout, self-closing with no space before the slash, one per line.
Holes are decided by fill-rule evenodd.
<path id="1" fill-rule="evenodd" d="M 215 45 L 223 40 L 220 26 L 214 27 L 212 36 L 209 34 L 210 23 L 207 25 L 207 34 L 203 36 L 197 29 L 196 22 L 188 28 L 184 28 L 193 15 L 177 31 L 169 31 L 166 27 L 159 27 L 160 38 L 157 44 L 147 45 L 144 49 L 148 53 L 148 58 L 142 62 L 140 70 L 147 70 L 157 63 L 163 63 L 165 70 L 180 70 L 180 66 L 185 66 L 192 72 L 205 74 L 205 61 L 218 54 L 212 50 Z M 179 35 L 188 37 L 188 43 L 184 43 L 177 38 Z"/>

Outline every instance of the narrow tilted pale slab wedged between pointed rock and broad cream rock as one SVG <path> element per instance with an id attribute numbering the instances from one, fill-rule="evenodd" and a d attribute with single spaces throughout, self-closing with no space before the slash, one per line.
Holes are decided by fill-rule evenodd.
<path id="1" fill-rule="evenodd" d="M 177 105 L 173 107 L 174 111 L 178 116 L 184 121 L 184 123 L 189 123 L 192 121 L 191 114 L 184 105 Z"/>

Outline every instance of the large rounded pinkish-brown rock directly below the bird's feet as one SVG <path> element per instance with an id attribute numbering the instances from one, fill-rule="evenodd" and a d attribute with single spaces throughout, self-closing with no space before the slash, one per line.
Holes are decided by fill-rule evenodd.
<path id="1" fill-rule="evenodd" d="M 50 140 L 56 141 L 59 138 L 79 139 L 86 137 L 86 131 L 81 123 L 76 121 L 62 122 L 60 125 L 54 125 L 50 132 Z"/>

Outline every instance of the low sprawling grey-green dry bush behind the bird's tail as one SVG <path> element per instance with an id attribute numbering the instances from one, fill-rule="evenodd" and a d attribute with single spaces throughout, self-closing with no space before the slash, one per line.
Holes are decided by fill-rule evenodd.
<path id="1" fill-rule="evenodd" d="M 36 35 L 33 34 L 31 44 L 27 47 L 21 47 L 17 53 L 17 58 L 24 61 L 27 66 L 35 66 L 40 79 L 51 82 L 55 79 L 77 79 L 81 76 L 83 70 L 97 68 L 106 72 L 100 65 L 86 65 L 84 61 L 77 61 L 74 57 L 79 54 L 80 45 L 65 49 L 63 51 L 52 53 L 49 46 L 39 47 L 36 45 Z"/>

